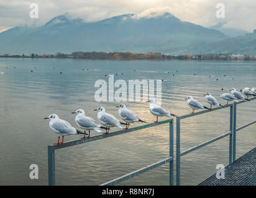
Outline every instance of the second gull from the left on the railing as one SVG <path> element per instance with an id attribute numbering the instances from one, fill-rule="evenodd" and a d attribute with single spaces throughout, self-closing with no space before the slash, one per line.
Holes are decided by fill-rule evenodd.
<path id="1" fill-rule="evenodd" d="M 96 121 L 93 118 L 85 116 L 84 110 L 80 109 L 72 113 L 76 114 L 76 118 L 75 118 L 76 124 L 78 124 L 78 126 L 80 126 L 82 129 L 85 129 L 85 132 L 86 130 L 89 130 L 89 134 L 91 130 L 95 130 L 97 132 L 103 132 L 103 129 L 106 129 L 106 127 L 103 127 L 100 124 L 96 123 Z M 85 136 L 83 138 L 85 138 Z"/>

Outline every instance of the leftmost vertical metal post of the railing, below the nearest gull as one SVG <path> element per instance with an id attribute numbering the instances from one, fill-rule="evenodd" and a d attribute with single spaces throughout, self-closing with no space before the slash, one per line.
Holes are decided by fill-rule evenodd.
<path id="1" fill-rule="evenodd" d="M 48 185 L 55 186 L 55 152 L 48 145 Z"/>

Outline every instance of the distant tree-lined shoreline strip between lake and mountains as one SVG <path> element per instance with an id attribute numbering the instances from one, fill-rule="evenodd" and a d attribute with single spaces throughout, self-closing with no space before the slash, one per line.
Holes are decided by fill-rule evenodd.
<path id="1" fill-rule="evenodd" d="M 37 54 L 29 55 L 19 54 L 0 54 L 0 58 L 58 58 L 58 59 L 96 59 L 96 60 L 221 60 L 221 61 L 256 61 L 256 56 L 242 55 L 242 54 L 184 54 L 184 55 L 170 55 L 150 52 L 147 54 L 132 53 L 130 51 L 124 52 L 73 52 L 71 54 L 57 53 L 57 54 Z"/>

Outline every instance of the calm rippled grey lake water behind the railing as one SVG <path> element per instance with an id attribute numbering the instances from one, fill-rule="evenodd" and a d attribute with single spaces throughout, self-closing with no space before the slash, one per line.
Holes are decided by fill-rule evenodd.
<path id="1" fill-rule="evenodd" d="M 7 67 L 7 68 L 6 68 Z M 83 70 L 84 69 L 84 70 Z M 87 70 L 88 69 L 88 70 Z M 134 71 L 135 70 L 135 71 Z M 33 72 L 31 72 L 33 71 Z M 178 72 L 176 72 L 178 71 Z M 72 111 L 83 108 L 97 120 L 94 108 L 104 106 L 117 118 L 119 102 L 96 102 L 94 82 L 114 79 L 163 79 L 162 106 L 172 113 L 191 112 L 188 95 L 204 105 L 206 92 L 219 95 L 256 87 L 253 61 L 95 61 L 75 59 L 0 59 L 0 184 L 48 184 L 47 145 L 57 141 L 45 116 L 56 113 L 76 126 Z M 62 74 L 60 74 L 62 72 Z M 169 73 L 168 73 L 169 72 Z M 121 74 L 123 73 L 123 75 Z M 175 74 L 173 76 L 173 74 Z M 196 74 L 196 75 L 194 75 Z M 209 77 L 211 75 L 211 77 Z M 226 75 L 226 77 L 224 76 Z M 216 80 L 218 79 L 218 80 Z M 221 88 L 224 90 L 222 91 Z M 126 102 L 147 122 L 155 121 L 149 104 Z M 255 120 L 256 103 L 237 106 L 237 127 Z M 160 118 L 160 120 L 167 118 Z M 139 124 L 132 124 L 138 126 Z M 114 127 L 112 131 L 116 131 Z M 181 152 L 229 131 L 229 109 L 181 121 Z M 92 132 L 93 135 L 98 135 Z M 66 140 L 78 136 L 65 137 Z M 89 142 L 55 152 L 57 185 L 99 185 L 168 157 L 168 124 Z M 255 125 L 237 134 L 237 157 L 255 147 Z M 228 164 L 229 137 L 181 157 L 181 184 L 196 185 Z M 39 165 L 39 179 L 29 178 L 30 164 Z M 123 185 L 168 185 L 169 165 L 124 181 Z"/>

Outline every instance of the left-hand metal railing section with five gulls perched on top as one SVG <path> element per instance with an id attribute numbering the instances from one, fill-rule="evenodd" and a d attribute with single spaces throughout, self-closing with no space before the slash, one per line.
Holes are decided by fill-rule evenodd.
<path id="1" fill-rule="evenodd" d="M 48 145 L 48 185 L 50 185 L 50 186 L 55 185 L 55 150 L 63 149 L 65 147 L 70 147 L 73 145 L 84 144 L 86 142 L 100 140 L 100 139 L 104 139 L 107 137 L 117 136 L 120 134 L 126 134 L 128 132 L 138 131 L 140 129 L 146 129 L 149 127 L 154 127 L 154 126 L 158 126 L 161 124 L 167 124 L 167 123 L 170 123 L 170 129 L 169 129 L 169 132 L 170 132 L 170 149 L 169 149 L 170 156 L 168 158 L 165 158 L 164 160 L 161 160 L 161 161 L 157 161 L 156 163 L 153 163 L 152 165 L 145 166 L 144 168 L 140 168 L 139 170 L 135 170 L 132 173 L 128 173 L 119 178 L 113 179 L 111 181 L 107 181 L 106 183 L 101 184 L 101 185 L 106 186 L 106 185 L 114 185 L 117 183 L 121 183 L 122 181 L 125 181 L 126 179 L 133 178 L 134 176 L 145 173 L 146 171 L 152 170 L 153 168 L 157 168 L 158 166 L 164 165 L 166 163 L 170 163 L 170 185 L 172 186 L 173 180 L 174 180 L 174 177 L 173 177 L 173 119 L 167 119 L 165 121 L 160 121 L 158 123 L 145 124 L 143 126 L 137 126 L 137 127 L 133 127 L 133 128 L 126 129 L 126 130 L 115 131 L 115 132 L 111 132 L 109 134 L 101 134 L 99 136 L 93 136 L 93 137 L 89 137 L 87 139 L 71 140 L 68 142 L 64 142 L 63 144 Z"/>

